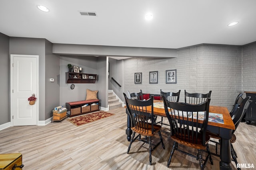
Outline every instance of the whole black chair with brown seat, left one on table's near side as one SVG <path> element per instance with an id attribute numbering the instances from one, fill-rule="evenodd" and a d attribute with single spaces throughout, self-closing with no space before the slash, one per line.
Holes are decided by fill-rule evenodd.
<path id="1" fill-rule="evenodd" d="M 133 131 L 127 153 L 129 153 L 131 145 L 136 139 L 144 143 L 148 143 L 149 144 L 149 162 L 151 165 L 152 150 L 154 150 L 155 147 L 157 147 L 160 143 L 162 143 L 162 147 L 164 148 L 164 143 L 163 143 L 162 135 L 160 132 L 162 127 L 160 125 L 156 125 L 153 121 L 150 121 L 150 120 L 154 120 L 153 96 L 149 100 L 142 101 L 142 100 L 136 100 L 136 99 L 128 99 L 126 94 L 124 93 L 124 98 L 125 98 L 128 113 L 132 121 L 131 129 Z M 151 107 L 150 113 L 147 110 L 147 107 Z M 149 115 L 151 116 L 150 119 L 148 119 Z M 135 133 L 138 133 L 138 135 L 134 138 Z M 158 133 L 160 137 L 160 142 L 158 144 L 153 144 L 151 137 L 156 135 L 156 133 Z M 143 140 L 141 139 L 140 135 L 148 137 L 148 139 Z M 152 145 L 154 146 L 153 149 L 152 149 Z"/>

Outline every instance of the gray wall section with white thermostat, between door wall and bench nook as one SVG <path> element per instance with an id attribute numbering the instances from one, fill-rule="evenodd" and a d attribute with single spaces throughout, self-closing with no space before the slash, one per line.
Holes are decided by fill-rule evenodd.
<path id="1" fill-rule="evenodd" d="M 52 54 L 52 43 L 45 40 L 45 117 L 51 117 L 60 102 L 60 56 Z M 54 82 L 50 82 L 54 78 Z"/>

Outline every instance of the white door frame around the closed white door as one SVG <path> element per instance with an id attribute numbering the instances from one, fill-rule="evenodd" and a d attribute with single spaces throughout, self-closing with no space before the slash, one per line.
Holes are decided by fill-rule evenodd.
<path id="1" fill-rule="evenodd" d="M 10 101 L 10 120 L 11 120 L 11 124 L 10 126 L 13 126 L 13 60 L 14 57 L 34 57 L 36 58 L 36 97 L 37 97 L 37 102 L 36 104 L 38 105 L 38 107 L 36 107 L 36 125 L 38 125 L 39 122 L 39 55 L 16 55 L 16 54 L 11 54 L 10 55 L 10 97 L 11 97 L 11 101 Z"/>

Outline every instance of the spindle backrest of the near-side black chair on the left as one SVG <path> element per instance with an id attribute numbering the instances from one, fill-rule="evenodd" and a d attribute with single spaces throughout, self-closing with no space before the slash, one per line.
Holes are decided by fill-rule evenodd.
<path id="1" fill-rule="evenodd" d="M 151 125 L 154 120 L 153 96 L 149 100 L 142 101 L 136 99 L 128 99 L 124 93 L 124 98 L 126 101 L 128 113 L 132 121 L 131 127 L 142 133 L 154 134 L 154 126 Z M 151 111 L 148 111 L 147 107 L 150 107 Z"/>

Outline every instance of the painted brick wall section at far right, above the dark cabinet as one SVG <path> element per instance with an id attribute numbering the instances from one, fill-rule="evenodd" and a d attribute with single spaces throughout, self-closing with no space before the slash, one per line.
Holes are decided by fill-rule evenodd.
<path id="1" fill-rule="evenodd" d="M 256 91 L 256 43 L 243 47 L 242 50 L 242 91 Z"/>

